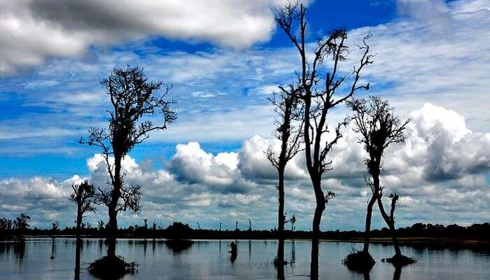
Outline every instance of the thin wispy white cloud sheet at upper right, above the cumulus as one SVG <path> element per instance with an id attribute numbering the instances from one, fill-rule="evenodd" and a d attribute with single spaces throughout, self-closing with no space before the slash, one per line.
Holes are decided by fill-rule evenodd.
<path id="1" fill-rule="evenodd" d="M 374 64 L 365 69 L 371 94 L 383 94 L 405 116 L 430 102 L 462 114 L 472 130 L 490 130 L 489 1 L 399 0 L 408 17 L 367 31 Z M 352 57 L 354 57 L 351 55 Z"/>

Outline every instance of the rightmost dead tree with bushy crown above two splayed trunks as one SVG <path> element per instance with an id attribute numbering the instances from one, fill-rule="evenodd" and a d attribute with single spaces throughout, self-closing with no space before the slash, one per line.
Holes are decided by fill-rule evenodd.
<path id="1" fill-rule="evenodd" d="M 409 123 L 409 120 L 401 122 L 395 116 L 394 109 L 389 105 L 386 99 L 374 96 L 367 99 L 354 99 L 348 102 L 349 108 L 353 111 L 353 130 L 361 135 L 360 143 L 363 144 L 368 157 L 365 158 L 367 169 L 366 182 L 370 187 L 372 196 L 367 203 L 367 214 L 365 221 L 365 253 L 369 252 L 370 230 L 372 207 L 378 202 L 381 216 L 390 228 L 393 237 L 393 246 L 395 246 L 395 255 L 401 255 L 400 247 L 395 236 L 394 211 L 398 195 L 391 195 L 391 214 L 388 216 L 381 201 L 384 187 L 379 183 L 379 176 L 383 167 L 383 156 L 386 148 L 391 144 L 401 144 L 405 142 L 403 132 Z"/>

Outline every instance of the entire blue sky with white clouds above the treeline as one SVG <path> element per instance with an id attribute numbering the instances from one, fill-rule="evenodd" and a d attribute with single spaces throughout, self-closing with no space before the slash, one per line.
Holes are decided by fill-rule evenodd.
<path id="1" fill-rule="evenodd" d="M 99 80 L 114 66 L 139 65 L 173 85 L 179 119 L 135 147 L 123 167 L 143 186 L 148 218 L 167 226 L 270 229 L 276 226 L 276 173 L 265 160 L 274 111 L 267 97 L 294 77 L 298 57 L 274 23 L 283 0 L 0 0 L 0 216 L 31 226 L 73 226 L 72 183 L 106 186 L 100 151 L 80 146 L 89 127 L 107 125 Z M 490 1 L 304 1 L 308 43 L 345 27 L 351 60 L 372 32 L 370 91 L 410 118 L 405 144 L 384 158 L 385 193 L 400 195 L 398 226 L 470 225 L 490 214 Z M 348 112 L 335 110 L 329 123 Z M 362 230 L 365 158 L 350 127 L 330 154 L 324 190 L 337 193 L 323 230 Z M 314 193 L 304 156 L 286 170 L 286 212 L 309 230 Z M 106 209 L 87 214 L 96 225 Z M 384 226 L 375 212 L 374 227 Z"/>

